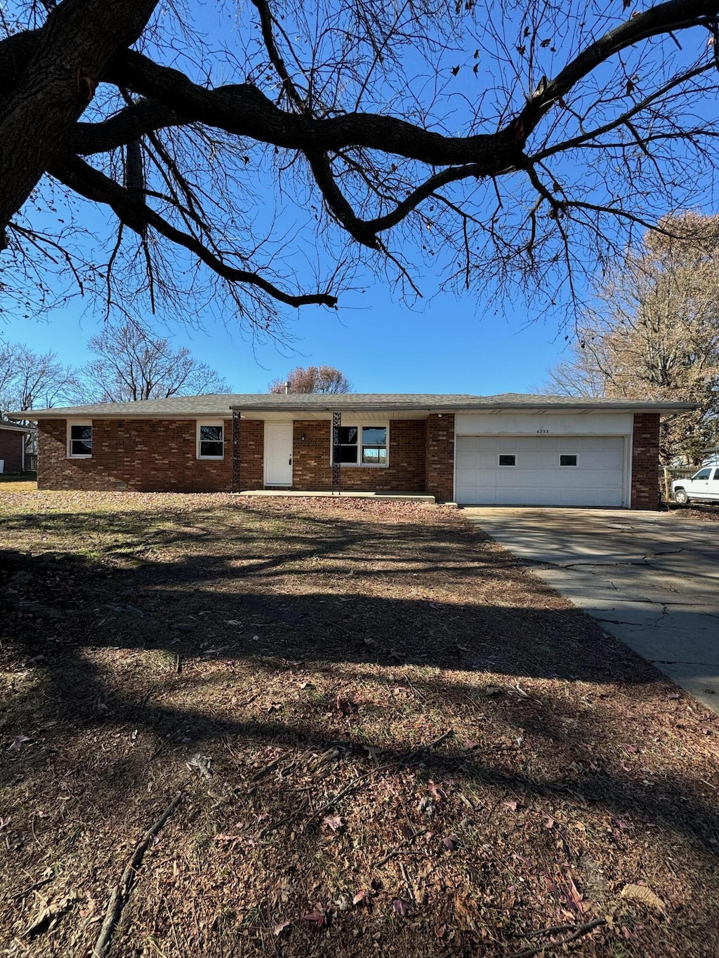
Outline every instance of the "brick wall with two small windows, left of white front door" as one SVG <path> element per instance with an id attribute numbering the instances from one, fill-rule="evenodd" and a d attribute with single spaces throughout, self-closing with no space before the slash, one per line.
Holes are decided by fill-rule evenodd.
<path id="1" fill-rule="evenodd" d="M 37 423 L 38 489 L 209 492 L 232 488 L 231 419 L 224 420 L 224 459 L 204 460 L 197 459 L 195 420 L 93 420 L 92 425 L 92 458 L 68 459 L 66 421 Z M 249 437 L 256 425 L 253 422 L 246 430 Z M 254 486 L 256 453 L 249 441 L 246 445 L 246 474 Z"/>

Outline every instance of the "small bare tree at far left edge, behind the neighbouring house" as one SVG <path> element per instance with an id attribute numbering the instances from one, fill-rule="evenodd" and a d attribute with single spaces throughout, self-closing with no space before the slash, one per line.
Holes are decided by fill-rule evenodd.
<path id="1" fill-rule="evenodd" d="M 0 343 L 0 412 L 63 405 L 80 392 L 77 370 L 57 353 L 35 353 L 23 343 Z"/>

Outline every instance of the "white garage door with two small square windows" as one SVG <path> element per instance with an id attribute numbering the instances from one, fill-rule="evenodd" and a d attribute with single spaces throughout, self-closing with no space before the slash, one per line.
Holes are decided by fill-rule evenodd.
<path id="1" fill-rule="evenodd" d="M 459 503 L 625 505 L 622 436 L 457 436 L 455 455 Z"/>

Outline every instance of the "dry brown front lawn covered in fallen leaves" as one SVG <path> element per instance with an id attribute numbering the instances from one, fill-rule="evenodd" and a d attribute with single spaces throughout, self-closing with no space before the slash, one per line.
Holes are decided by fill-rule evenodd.
<path id="1" fill-rule="evenodd" d="M 0 633 L 0 954 L 176 795 L 113 955 L 719 953 L 719 720 L 461 513 L 3 487 Z"/>

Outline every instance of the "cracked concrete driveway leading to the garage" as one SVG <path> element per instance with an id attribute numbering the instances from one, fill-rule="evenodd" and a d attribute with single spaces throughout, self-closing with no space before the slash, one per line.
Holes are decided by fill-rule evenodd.
<path id="1" fill-rule="evenodd" d="M 625 510 L 463 513 L 719 712 L 719 523 Z"/>

